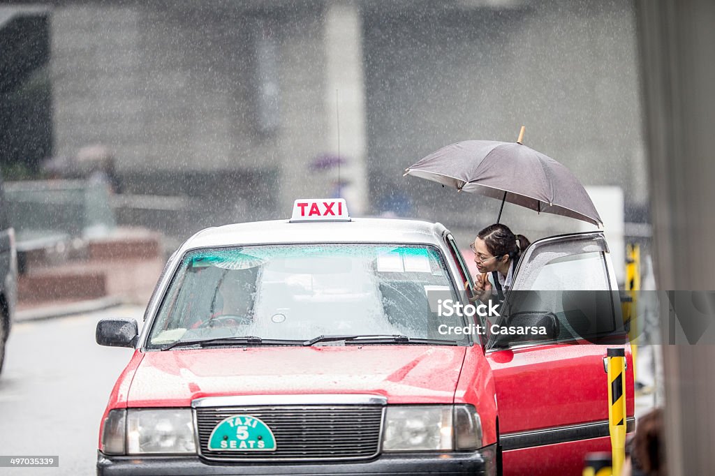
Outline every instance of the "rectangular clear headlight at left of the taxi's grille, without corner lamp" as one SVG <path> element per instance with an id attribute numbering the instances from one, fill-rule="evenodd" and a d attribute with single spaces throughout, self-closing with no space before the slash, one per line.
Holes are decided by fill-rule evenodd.
<path id="1" fill-rule="evenodd" d="M 189 408 L 127 411 L 127 453 L 195 453 Z"/>

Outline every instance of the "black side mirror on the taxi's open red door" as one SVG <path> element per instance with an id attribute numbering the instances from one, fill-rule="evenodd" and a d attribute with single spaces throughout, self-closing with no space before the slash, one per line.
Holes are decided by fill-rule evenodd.
<path id="1" fill-rule="evenodd" d="M 551 341 L 558 338 L 558 318 L 553 312 L 515 312 L 494 333 L 493 347 L 510 347 L 523 342 Z"/>

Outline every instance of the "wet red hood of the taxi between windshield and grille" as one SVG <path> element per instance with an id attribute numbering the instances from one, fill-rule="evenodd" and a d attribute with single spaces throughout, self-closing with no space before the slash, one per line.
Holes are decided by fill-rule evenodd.
<path id="1" fill-rule="evenodd" d="M 146 352 L 129 407 L 189 406 L 229 395 L 372 394 L 390 403 L 452 403 L 466 347 L 347 345 Z"/>

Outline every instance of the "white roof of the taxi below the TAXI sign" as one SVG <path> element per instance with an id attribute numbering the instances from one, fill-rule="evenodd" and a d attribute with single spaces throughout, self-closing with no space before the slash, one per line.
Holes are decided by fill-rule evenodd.
<path id="1" fill-rule="evenodd" d="M 412 219 L 352 218 L 350 222 L 291 223 L 287 219 L 203 229 L 182 250 L 248 244 L 422 243 L 440 244 L 445 227 Z"/>

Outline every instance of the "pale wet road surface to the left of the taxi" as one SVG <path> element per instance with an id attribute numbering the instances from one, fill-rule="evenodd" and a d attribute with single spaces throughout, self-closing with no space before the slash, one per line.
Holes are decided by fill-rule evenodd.
<path id="1" fill-rule="evenodd" d="M 59 455 L 59 467 L 0 468 L 1 475 L 93 475 L 99 420 L 132 349 L 100 347 L 97 321 L 134 317 L 114 307 L 46 321 L 16 322 L 0 375 L 0 455 Z"/>

